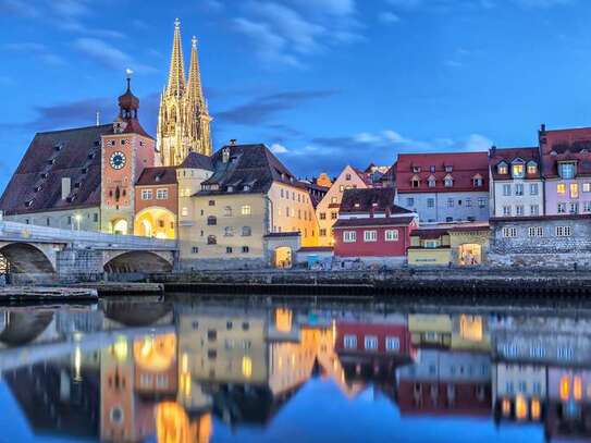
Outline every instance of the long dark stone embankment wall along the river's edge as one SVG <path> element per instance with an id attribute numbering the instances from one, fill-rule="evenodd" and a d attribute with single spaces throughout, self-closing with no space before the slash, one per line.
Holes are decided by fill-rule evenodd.
<path id="1" fill-rule="evenodd" d="M 495 296 L 505 300 L 515 296 L 591 296 L 591 272 L 556 270 L 201 271 L 153 274 L 150 281 L 163 283 L 167 293 Z"/>

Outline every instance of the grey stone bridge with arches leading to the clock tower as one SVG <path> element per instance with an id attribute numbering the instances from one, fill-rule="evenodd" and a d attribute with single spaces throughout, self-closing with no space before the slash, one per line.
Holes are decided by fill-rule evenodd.
<path id="1" fill-rule="evenodd" d="M 2 221 L 0 255 L 7 259 L 11 274 L 22 276 L 21 280 L 63 280 L 103 272 L 169 272 L 176 266 L 177 244 Z"/>

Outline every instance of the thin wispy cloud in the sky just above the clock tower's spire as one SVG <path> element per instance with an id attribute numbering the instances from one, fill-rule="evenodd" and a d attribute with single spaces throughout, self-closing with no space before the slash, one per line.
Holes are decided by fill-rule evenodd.
<path id="1" fill-rule="evenodd" d="M 98 38 L 78 38 L 72 44 L 75 49 L 110 70 L 127 67 L 143 73 L 153 73 L 157 70 L 135 61 L 131 56 Z"/>

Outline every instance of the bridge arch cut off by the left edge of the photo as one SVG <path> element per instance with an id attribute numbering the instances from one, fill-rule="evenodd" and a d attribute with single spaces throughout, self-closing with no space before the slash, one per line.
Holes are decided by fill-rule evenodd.
<path id="1" fill-rule="evenodd" d="M 40 247 L 29 243 L 0 244 L 0 254 L 10 263 L 13 273 L 49 274 L 56 272 L 56 251 L 52 246 Z"/>

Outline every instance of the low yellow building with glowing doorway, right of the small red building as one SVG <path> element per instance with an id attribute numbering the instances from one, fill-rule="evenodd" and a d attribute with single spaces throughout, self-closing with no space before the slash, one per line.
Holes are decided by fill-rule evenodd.
<path id="1" fill-rule="evenodd" d="M 410 266 L 478 266 L 487 260 L 488 223 L 435 225 L 410 235 Z"/>

